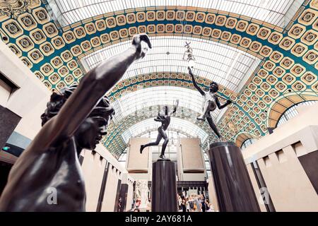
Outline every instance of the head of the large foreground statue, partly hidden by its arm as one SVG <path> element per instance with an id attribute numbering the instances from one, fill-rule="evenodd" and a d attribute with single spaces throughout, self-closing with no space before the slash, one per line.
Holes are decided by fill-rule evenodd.
<path id="1" fill-rule="evenodd" d="M 52 117 L 59 113 L 59 110 L 64 105 L 66 100 L 76 90 L 77 85 L 71 85 L 64 88 L 60 93 L 53 93 L 50 101 L 47 103 L 45 113 L 41 115 L 42 126 Z M 80 148 L 94 150 L 96 145 L 106 135 L 107 125 L 112 119 L 114 109 L 110 106 L 110 100 L 107 97 L 102 97 L 98 105 L 93 109 L 83 123 L 78 127 L 74 134 L 76 144 Z"/>

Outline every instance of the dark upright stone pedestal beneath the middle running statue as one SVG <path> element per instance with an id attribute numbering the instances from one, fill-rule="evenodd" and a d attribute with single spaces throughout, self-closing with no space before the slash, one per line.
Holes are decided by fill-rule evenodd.
<path id="1" fill-rule="evenodd" d="M 153 162 L 151 211 L 177 212 L 175 163 L 170 160 L 157 160 Z"/>

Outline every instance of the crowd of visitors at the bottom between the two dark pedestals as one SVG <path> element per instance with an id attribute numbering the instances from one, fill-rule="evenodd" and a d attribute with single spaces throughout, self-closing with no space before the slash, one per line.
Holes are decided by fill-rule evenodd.
<path id="1" fill-rule="evenodd" d="M 178 204 L 180 212 L 215 212 L 213 204 L 203 194 L 178 195 Z"/>

